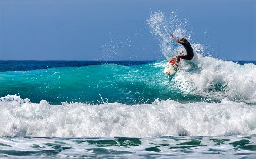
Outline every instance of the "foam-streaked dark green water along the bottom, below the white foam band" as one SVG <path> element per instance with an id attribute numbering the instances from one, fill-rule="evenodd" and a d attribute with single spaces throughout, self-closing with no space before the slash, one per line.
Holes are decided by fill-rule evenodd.
<path id="1" fill-rule="evenodd" d="M 121 140 L 120 140 L 121 139 Z M 134 141 L 137 141 L 136 143 Z M 139 142 L 138 142 L 139 141 Z M 0 137 L 6 158 L 255 158 L 255 135 L 161 138 Z M 230 144 L 231 143 L 231 144 Z M 4 145 L 5 144 L 5 145 Z M 246 144 L 245 146 L 241 146 Z M 8 146 L 7 146 L 8 145 Z M 57 150 L 56 150 L 57 149 Z M 188 154 L 189 153 L 189 154 Z M 19 154 L 19 156 L 17 156 Z M 30 154 L 30 155 L 29 155 Z M 2 157 L 1 156 L 1 157 Z"/>

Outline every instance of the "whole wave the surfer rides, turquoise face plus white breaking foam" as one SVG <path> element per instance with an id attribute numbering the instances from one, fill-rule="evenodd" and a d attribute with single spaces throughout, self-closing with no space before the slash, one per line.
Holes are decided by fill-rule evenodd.
<path id="1" fill-rule="evenodd" d="M 50 104 L 68 101 L 133 105 L 169 98 L 181 103 L 220 102 L 226 97 L 256 103 L 255 64 L 239 65 L 196 52 L 191 61 L 181 60 L 174 76 L 166 76 L 166 63 L 167 60 L 133 66 L 105 64 L 0 72 L 0 95 L 21 95 L 35 103 L 45 99 Z"/>

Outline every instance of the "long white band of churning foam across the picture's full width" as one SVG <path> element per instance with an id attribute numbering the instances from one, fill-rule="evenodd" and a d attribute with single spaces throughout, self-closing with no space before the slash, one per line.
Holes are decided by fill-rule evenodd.
<path id="1" fill-rule="evenodd" d="M 153 104 L 50 105 L 18 96 L 0 100 L 0 136 L 161 137 L 256 134 L 256 107 L 221 103 L 155 101 Z"/>

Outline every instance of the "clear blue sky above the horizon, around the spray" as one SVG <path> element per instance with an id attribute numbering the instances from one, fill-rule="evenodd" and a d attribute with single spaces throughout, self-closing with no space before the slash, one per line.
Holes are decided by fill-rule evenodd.
<path id="1" fill-rule="evenodd" d="M 256 60 L 255 0 L 0 0 L 0 60 L 161 60 L 147 19 L 175 9 L 213 57 Z"/>

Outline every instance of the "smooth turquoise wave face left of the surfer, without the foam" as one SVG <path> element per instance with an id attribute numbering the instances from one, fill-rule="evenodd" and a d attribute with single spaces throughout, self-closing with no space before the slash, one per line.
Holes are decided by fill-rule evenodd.
<path id="1" fill-rule="evenodd" d="M 16 94 L 32 102 L 45 99 L 51 104 L 61 101 L 97 104 L 97 100 L 102 102 L 99 94 L 104 101 L 123 104 L 151 103 L 157 98 L 187 100 L 189 97 L 177 95 L 176 88 L 169 88 L 173 77 L 165 76 L 158 64 L 103 64 L 1 72 L 0 96 Z"/>

